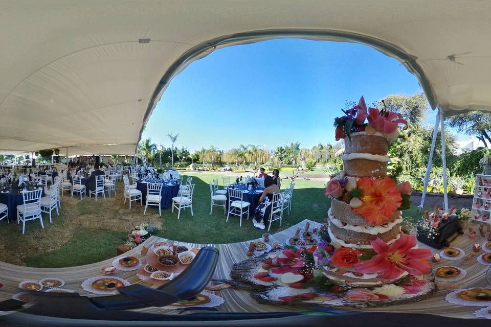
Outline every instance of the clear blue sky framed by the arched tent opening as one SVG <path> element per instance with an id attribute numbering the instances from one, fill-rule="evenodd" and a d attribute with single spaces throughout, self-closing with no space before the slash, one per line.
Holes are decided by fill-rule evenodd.
<path id="1" fill-rule="evenodd" d="M 219 49 L 176 76 L 143 133 L 192 152 L 211 145 L 274 149 L 334 143 L 333 120 L 345 101 L 367 104 L 421 92 L 397 60 L 355 43 L 282 39 Z M 433 114 L 432 114 L 433 116 Z"/>

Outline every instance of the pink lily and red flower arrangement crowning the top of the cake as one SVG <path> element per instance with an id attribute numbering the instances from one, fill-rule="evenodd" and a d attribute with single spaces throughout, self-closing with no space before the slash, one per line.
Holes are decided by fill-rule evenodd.
<path id="1" fill-rule="evenodd" d="M 367 134 L 382 134 L 389 143 L 395 141 L 398 135 L 399 124 L 408 126 L 400 113 L 386 109 L 367 108 L 365 99 L 360 98 L 358 105 L 349 110 L 343 110 L 344 116 L 334 119 L 336 127 L 336 141 L 348 137 L 351 139 L 353 132 L 366 132 Z M 366 122 L 365 122 L 366 120 Z"/>

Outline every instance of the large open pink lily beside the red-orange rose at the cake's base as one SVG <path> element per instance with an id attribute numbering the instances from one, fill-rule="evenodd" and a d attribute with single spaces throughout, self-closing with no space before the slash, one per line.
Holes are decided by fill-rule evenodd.
<path id="1" fill-rule="evenodd" d="M 401 234 L 392 244 L 380 238 L 370 241 L 377 253 L 373 258 L 356 264 L 354 268 L 362 273 L 378 273 L 378 278 L 395 279 L 407 271 L 410 275 L 419 276 L 430 272 L 428 257 L 430 249 L 415 249 L 416 237 Z"/>

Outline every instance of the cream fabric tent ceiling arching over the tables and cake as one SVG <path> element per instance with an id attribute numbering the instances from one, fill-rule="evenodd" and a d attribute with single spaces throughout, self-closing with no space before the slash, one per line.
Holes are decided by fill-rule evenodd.
<path id="1" fill-rule="evenodd" d="M 4 0 L 0 151 L 132 155 L 189 63 L 278 37 L 365 43 L 406 65 L 432 107 L 491 110 L 490 16 L 473 0 Z"/>

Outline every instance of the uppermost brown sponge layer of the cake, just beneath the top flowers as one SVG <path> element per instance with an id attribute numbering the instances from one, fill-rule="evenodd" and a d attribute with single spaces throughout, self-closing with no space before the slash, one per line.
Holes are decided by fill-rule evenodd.
<path id="1" fill-rule="evenodd" d="M 389 149 L 387 138 L 381 133 L 369 135 L 365 132 L 351 133 L 351 141 L 344 138 L 344 153 L 370 153 L 386 155 Z"/>

